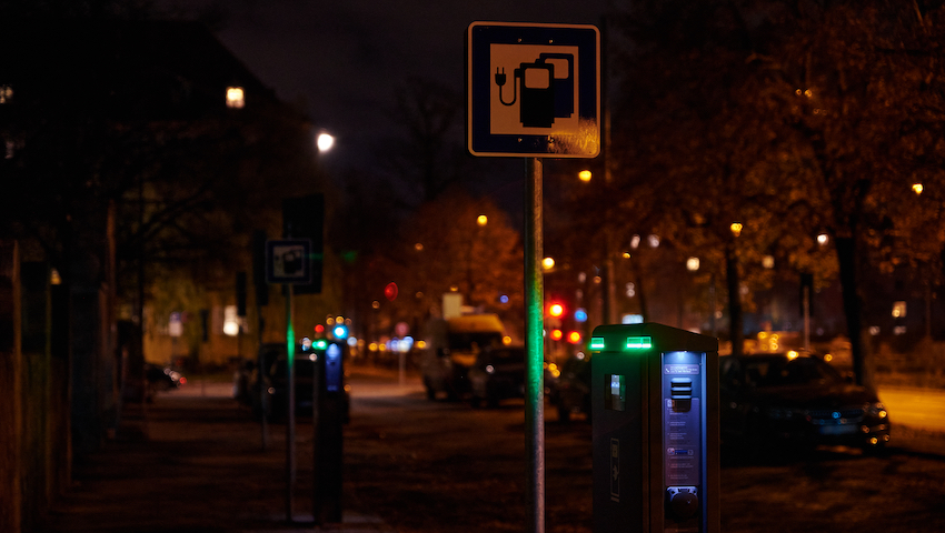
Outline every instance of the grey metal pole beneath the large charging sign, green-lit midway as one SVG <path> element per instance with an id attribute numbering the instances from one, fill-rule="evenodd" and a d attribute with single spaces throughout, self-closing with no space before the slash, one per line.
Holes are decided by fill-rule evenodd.
<path id="1" fill-rule="evenodd" d="M 545 383 L 541 255 L 541 159 L 526 159 L 525 199 L 525 447 L 528 450 L 528 531 L 545 531 Z"/>

